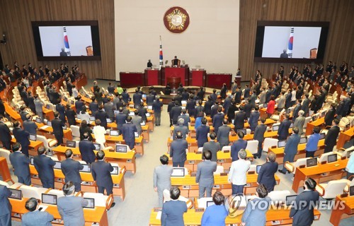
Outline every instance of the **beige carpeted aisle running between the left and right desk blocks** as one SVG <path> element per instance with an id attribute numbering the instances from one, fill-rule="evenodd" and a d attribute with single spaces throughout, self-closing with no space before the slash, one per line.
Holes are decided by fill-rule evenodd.
<path id="1" fill-rule="evenodd" d="M 137 155 L 137 172 L 125 174 L 125 201 L 117 198 L 115 207 L 108 211 L 109 225 L 148 225 L 150 211 L 158 205 L 153 188 L 154 167 L 160 164 L 159 157 L 167 151 L 170 136 L 167 105 L 161 114 L 161 126 L 150 133 L 150 142 L 144 143 L 144 156 Z"/>

